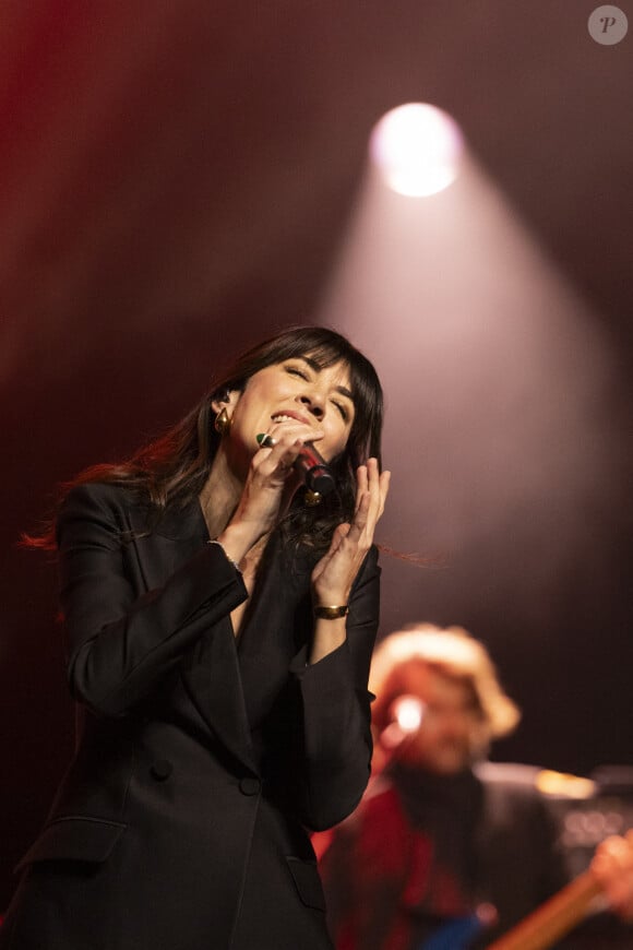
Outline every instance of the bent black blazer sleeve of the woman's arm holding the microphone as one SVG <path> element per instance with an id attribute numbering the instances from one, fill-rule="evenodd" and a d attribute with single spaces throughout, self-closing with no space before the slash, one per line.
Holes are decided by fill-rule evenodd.
<path id="1" fill-rule="evenodd" d="M 139 595 L 124 568 L 114 490 L 74 488 L 57 532 L 71 692 L 105 716 L 124 715 L 147 697 L 247 597 L 239 571 L 208 544 L 162 586 Z"/>

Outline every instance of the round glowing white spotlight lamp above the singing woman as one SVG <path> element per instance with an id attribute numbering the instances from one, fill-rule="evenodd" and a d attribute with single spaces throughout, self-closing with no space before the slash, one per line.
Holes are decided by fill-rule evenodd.
<path id="1" fill-rule="evenodd" d="M 442 109 L 408 103 L 386 112 L 374 127 L 370 154 L 398 194 L 422 198 L 447 188 L 457 177 L 463 138 Z"/>

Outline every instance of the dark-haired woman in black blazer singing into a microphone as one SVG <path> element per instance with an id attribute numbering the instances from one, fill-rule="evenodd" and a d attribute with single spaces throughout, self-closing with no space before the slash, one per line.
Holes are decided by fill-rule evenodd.
<path id="1" fill-rule="evenodd" d="M 306 829 L 369 777 L 381 424 L 371 364 L 289 330 L 67 491 L 35 543 L 59 554 L 77 749 L 2 950 L 332 947 Z"/>

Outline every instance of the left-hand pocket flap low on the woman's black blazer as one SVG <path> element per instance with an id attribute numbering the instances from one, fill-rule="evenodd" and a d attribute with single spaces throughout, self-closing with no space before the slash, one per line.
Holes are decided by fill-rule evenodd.
<path id="1" fill-rule="evenodd" d="M 109 857 L 127 827 L 104 818 L 58 818 L 44 829 L 15 867 L 15 872 L 40 860 L 99 864 Z"/>

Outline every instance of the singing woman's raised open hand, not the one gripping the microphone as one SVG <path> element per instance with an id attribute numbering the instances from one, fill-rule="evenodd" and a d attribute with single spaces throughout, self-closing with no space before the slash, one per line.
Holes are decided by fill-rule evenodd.
<path id="1" fill-rule="evenodd" d="M 312 571 L 312 596 L 316 606 L 343 606 L 360 566 L 372 545 L 373 533 L 389 492 L 391 472 L 379 472 L 378 460 L 369 459 L 357 474 L 356 510 L 349 524 L 339 524 L 332 543 Z"/>

